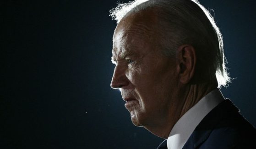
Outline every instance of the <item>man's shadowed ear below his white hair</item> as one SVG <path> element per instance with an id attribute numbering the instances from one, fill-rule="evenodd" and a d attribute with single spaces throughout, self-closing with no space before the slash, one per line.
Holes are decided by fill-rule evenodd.
<path id="1" fill-rule="evenodd" d="M 196 69 L 196 51 L 191 45 L 182 45 L 177 51 L 177 64 L 180 82 L 187 84 L 191 81 Z"/>

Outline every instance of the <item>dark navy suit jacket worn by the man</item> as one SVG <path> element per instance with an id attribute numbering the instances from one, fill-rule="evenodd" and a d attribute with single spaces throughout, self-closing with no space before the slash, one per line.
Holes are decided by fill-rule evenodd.
<path id="1" fill-rule="evenodd" d="M 158 149 L 167 149 L 167 139 Z M 202 119 L 182 149 L 256 149 L 256 129 L 226 99 Z"/>

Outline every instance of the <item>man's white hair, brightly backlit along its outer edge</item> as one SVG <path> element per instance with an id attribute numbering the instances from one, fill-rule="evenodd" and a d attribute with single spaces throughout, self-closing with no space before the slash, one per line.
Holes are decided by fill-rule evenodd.
<path id="1" fill-rule="evenodd" d="M 158 14 L 160 20 L 165 22 L 161 24 L 163 29 L 160 29 L 164 30 L 162 31 L 164 53 L 174 55 L 176 51 L 173 49 L 184 43 L 196 46 L 201 61 L 199 65 L 205 67 L 203 73 L 208 75 L 206 77 L 215 72 L 214 77 L 217 78 L 218 87 L 227 87 L 230 77 L 225 67 L 223 39 L 209 11 L 198 0 L 135 0 L 127 4 L 119 4 L 110 10 L 110 16 L 119 23 L 126 15 L 149 7 L 158 7 L 159 11 L 165 11 Z"/>

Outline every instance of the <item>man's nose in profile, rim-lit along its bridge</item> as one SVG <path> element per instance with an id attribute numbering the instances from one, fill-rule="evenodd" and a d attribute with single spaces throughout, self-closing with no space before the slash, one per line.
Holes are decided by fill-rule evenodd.
<path id="1" fill-rule="evenodd" d="M 117 65 L 114 68 L 114 74 L 112 77 L 112 81 L 110 83 L 110 87 L 117 89 L 122 88 L 129 85 L 129 79 L 125 75 L 125 67 Z"/>

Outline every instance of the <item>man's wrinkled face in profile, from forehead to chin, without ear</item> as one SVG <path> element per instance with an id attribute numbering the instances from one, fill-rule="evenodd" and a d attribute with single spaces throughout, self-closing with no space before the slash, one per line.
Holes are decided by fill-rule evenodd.
<path id="1" fill-rule="evenodd" d="M 115 63 L 111 87 L 119 88 L 137 126 L 154 126 L 174 113 L 178 75 L 175 61 L 162 55 L 156 17 L 151 11 L 120 21 L 113 37 Z M 178 117 L 178 116 L 177 116 Z"/>

